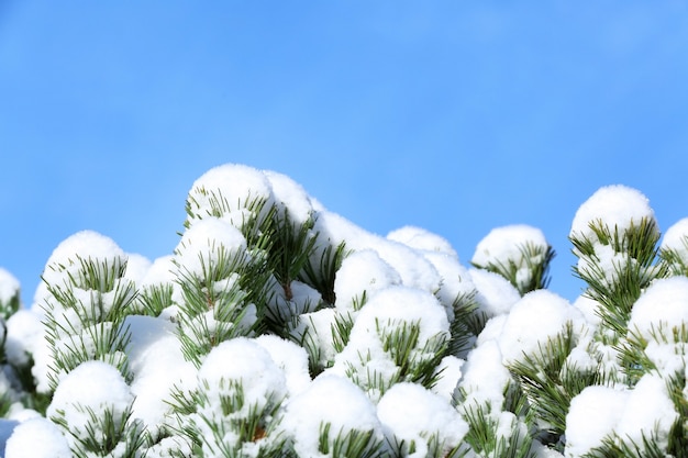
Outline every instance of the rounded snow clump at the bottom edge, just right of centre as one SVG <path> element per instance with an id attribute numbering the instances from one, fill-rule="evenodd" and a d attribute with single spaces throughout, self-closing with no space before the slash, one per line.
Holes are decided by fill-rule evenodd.
<path id="1" fill-rule="evenodd" d="M 409 458 L 429 456 L 429 439 L 434 436 L 441 456 L 456 447 L 468 432 L 468 424 L 445 399 L 415 383 L 397 383 L 377 404 L 382 425 L 397 442 L 415 444 Z"/>

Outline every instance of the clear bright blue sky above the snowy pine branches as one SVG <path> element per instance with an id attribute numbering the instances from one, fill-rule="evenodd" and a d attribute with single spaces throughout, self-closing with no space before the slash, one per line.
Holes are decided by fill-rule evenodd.
<path id="1" fill-rule="evenodd" d="M 170 254 L 225 163 L 464 265 L 493 227 L 540 227 L 573 300 L 599 187 L 641 190 L 662 230 L 688 216 L 688 4 L 0 0 L 0 267 L 26 304 L 77 231 Z"/>

